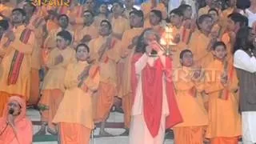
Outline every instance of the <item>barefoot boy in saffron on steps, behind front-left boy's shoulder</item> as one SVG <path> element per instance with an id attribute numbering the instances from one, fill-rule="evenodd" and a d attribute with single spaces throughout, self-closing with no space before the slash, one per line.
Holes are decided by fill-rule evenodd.
<path id="1" fill-rule="evenodd" d="M 46 62 L 49 70 L 44 78 L 42 85 L 42 98 L 38 103 L 42 113 L 42 129 L 38 134 L 46 133 L 48 123 L 48 132 L 57 134 L 56 127 L 52 123 L 54 115 L 58 110 L 58 105 L 62 102 L 65 92 L 64 77 L 66 68 L 70 62 L 74 62 L 75 51 L 70 47 L 72 36 L 70 32 L 62 30 L 57 34 L 57 48 L 50 51 L 50 56 Z"/>

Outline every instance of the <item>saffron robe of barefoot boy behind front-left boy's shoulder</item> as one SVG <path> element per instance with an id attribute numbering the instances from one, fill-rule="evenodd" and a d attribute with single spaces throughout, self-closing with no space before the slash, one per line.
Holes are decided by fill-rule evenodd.
<path id="1" fill-rule="evenodd" d="M 62 55 L 63 62 L 55 65 L 55 58 Z M 50 51 L 49 59 L 46 66 L 49 70 L 42 84 L 42 98 L 38 102 L 39 108 L 42 110 L 42 122 L 48 122 L 50 129 L 54 129 L 52 119 L 58 110 L 58 105 L 62 102 L 65 92 L 64 78 L 66 67 L 70 62 L 74 62 L 75 52 L 72 48 L 67 47 L 65 50 L 54 48 Z"/>

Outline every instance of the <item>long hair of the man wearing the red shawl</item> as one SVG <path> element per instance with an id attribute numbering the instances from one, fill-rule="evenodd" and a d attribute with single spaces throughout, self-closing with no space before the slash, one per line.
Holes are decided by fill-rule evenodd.
<path id="1" fill-rule="evenodd" d="M 157 41 L 159 42 L 160 37 L 159 37 L 159 35 L 157 33 L 155 33 L 153 31 L 153 29 L 151 29 L 151 28 L 145 29 L 145 30 L 143 30 L 142 34 L 138 37 L 138 42 L 137 42 L 137 46 L 135 48 L 135 53 L 142 53 L 142 54 L 144 54 L 146 52 L 147 44 L 145 43 L 145 40 L 144 40 L 144 34 L 146 32 L 149 32 L 149 31 L 152 31 L 152 33 L 155 34 L 155 36 L 157 37 Z"/>

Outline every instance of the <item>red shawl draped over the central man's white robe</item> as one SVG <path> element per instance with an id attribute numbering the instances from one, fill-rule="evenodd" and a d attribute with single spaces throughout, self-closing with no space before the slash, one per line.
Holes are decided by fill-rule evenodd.
<path id="1" fill-rule="evenodd" d="M 132 73 L 131 73 L 131 85 L 133 98 L 136 96 L 136 89 L 138 84 L 138 78 L 135 73 L 135 62 L 142 57 L 142 54 L 134 54 L 132 60 Z M 171 70 L 171 60 L 166 58 L 166 69 Z M 143 114 L 146 122 L 146 126 L 150 131 L 150 134 L 155 137 L 158 135 L 162 116 L 162 75 L 169 75 L 164 70 L 160 58 L 151 67 L 146 65 L 142 70 L 142 93 L 143 93 Z M 182 115 L 178 110 L 178 105 L 174 96 L 173 82 L 166 81 L 166 95 L 168 100 L 168 106 L 170 115 L 166 117 L 166 129 L 182 122 Z"/>

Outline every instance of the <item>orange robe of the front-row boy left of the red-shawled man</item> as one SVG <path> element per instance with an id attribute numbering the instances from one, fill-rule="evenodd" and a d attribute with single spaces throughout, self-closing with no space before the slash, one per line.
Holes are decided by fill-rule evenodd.
<path id="1" fill-rule="evenodd" d="M 62 144 L 90 143 L 94 129 L 92 94 L 98 89 L 99 71 L 98 66 L 91 67 L 85 86 L 78 87 L 78 75 L 86 66 L 87 62 L 73 62 L 66 69 L 66 91 L 53 120 L 60 126 Z"/>

